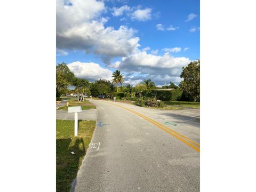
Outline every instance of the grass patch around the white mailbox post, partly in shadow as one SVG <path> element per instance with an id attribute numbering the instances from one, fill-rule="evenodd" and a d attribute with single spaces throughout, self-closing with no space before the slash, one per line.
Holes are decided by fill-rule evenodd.
<path id="1" fill-rule="evenodd" d="M 74 121 L 56 120 L 57 192 L 70 190 L 70 183 L 76 178 L 94 129 L 95 121 L 78 121 L 78 137 L 74 137 Z"/>

